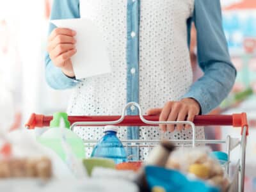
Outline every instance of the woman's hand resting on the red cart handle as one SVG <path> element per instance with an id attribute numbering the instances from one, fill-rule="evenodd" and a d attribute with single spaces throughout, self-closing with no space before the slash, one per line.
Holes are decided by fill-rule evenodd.
<path id="1" fill-rule="evenodd" d="M 200 105 L 195 99 L 185 98 L 180 101 L 169 101 L 163 108 L 149 109 L 147 115 L 160 115 L 159 121 L 184 121 L 193 122 L 195 115 L 200 113 Z M 174 131 L 174 125 L 159 125 L 163 131 Z M 184 125 L 177 125 L 182 130 Z M 186 129 L 189 125 L 186 125 Z"/>

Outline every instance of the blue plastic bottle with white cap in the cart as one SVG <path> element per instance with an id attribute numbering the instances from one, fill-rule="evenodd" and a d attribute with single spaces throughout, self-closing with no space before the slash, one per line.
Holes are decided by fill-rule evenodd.
<path id="1" fill-rule="evenodd" d="M 125 148 L 116 136 L 117 129 L 118 127 L 113 125 L 105 127 L 105 135 L 99 140 L 95 148 L 93 148 L 91 157 L 113 159 L 116 164 L 127 161 Z"/>

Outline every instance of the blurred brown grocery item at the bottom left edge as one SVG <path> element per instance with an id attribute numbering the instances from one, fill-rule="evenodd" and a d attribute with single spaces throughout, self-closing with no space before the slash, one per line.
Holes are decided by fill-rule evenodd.
<path id="1" fill-rule="evenodd" d="M 0 179 L 12 177 L 49 179 L 52 177 L 51 160 L 47 157 L 0 160 Z"/>

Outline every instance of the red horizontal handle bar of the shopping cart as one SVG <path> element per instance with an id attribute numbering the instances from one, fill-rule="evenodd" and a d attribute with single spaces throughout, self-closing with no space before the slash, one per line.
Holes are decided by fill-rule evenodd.
<path id="1" fill-rule="evenodd" d="M 121 116 L 68 116 L 70 124 L 75 122 L 108 122 L 118 120 Z M 158 121 L 159 116 L 143 116 L 146 120 Z M 52 120 L 52 116 L 36 115 L 33 113 L 26 127 L 28 129 L 35 129 L 35 127 L 49 126 Z M 234 115 L 197 115 L 193 123 L 196 126 L 206 126 L 206 125 L 222 125 L 222 126 L 233 126 L 241 127 L 246 129 L 246 136 L 249 134 L 248 123 L 246 113 L 234 114 Z M 132 115 L 125 116 L 124 120 L 117 126 L 152 126 L 150 124 L 145 124 L 141 121 L 140 116 Z M 90 126 L 104 126 L 104 125 L 90 125 Z"/>

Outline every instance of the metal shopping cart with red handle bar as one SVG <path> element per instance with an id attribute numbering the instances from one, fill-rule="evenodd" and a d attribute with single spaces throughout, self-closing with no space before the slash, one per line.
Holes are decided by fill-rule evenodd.
<path id="1" fill-rule="evenodd" d="M 138 116 L 125 116 L 127 108 L 135 106 L 138 108 Z M 36 115 L 33 113 L 26 124 L 26 129 L 34 129 L 35 127 L 49 126 L 52 116 Z M 228 154 L 228 166 L 227 174 L 231 177 L 230 167 L 230 152 L 240 146 L 241 156 L 237 161 L 236 170 L 232 174 L 232 182 L 229 188 L 230 192 L 244 191 L 244 168 L 245 168 L 245 155 L 246 155 L 246 137 L 248 136 L 248 123 L 246 113 L 234 114 L 234 115 L 198 115 L 195 116 L 193 122 L 180 121 L 180 122 L 160 122 L 159 116 L 143 116 L 139 104 L 135 102 L 128 103 L 122 111 L 121 116 L 68 116 L 70 121 L 71 130 L 74 127 L 81 126 L 104 126 L 104 125 L 116 125 L 116 126 L 157 126 L 159 124 L 188 124 L 192 128 L 192 140 L 170 140 L 175 145 L 196 147 L 197 144 L 227 144 Z M 227 136 L 226 140 L 196 140 L 196 126 L 206 125 L 221 125 L 221 126 L 233 126 L 241 127 L 241 138 L 233 139 Z M 84 140 L 85 147 L 93 147 L 97 141 Z M 125 147 L 136 148 L 153 148 L 160 140 L 122 140 Z M 146 143 L 146 144 L 145 144 Z"/>

